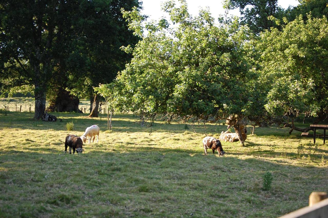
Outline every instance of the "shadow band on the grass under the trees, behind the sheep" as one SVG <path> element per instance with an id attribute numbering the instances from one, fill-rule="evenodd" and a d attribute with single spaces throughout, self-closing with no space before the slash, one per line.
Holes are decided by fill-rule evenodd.
<path id="1" fill-rule="evenodd" d="M 98 125 L 101 131 L 107 130 L 107 115 L 99 114 L 98 118 L 87 118 L 88 114 L 81 113 L 51 113 L 57 118 L 61 118 L 62 122 L 45 122 L 45 121 L 34 121 L 33 113 L 29 112 L 9 112 L 7 116 L 0 114 L 0 129 L 36 129 L 36 130 L 66 130 L 66 124 L 69 122 L 74 123 L 74 131 L 84 132 L 85 129 L 92 125 Z M 148 128 L 149 123 L 145 123 L 145 127 L 140 127 L 140 124 L 134 124 L 139 119 L 138 116 L 132 114 L 118 114 L 113 116 L 113 131 L 119 132 L 171 132 L 171 133 L 182 133 L 185 129 L 185 124 L 172 122 L 171 124 L 165 124 L 162 121 L 156 121 L 154 126 Z M 188 123 L 189 131 L 193 131 L 190 123 Z M 221 131 L 226 131 L 227 126 L 207 124 L 207 134 L 221 134 Z M 202 125 L 195 125 L 196 133 L 204 134 L 205 129 Z M 295 138 L 301 139 L 300 132 L 294 131 L 292 135 L 289 135 L 289 129 L 278 129 L 276 127 L 256 128 L 254 136 L 260 136 L 270 139 L 284 139 L 284 138 Z M 250 132 L 249 132 L 250 133 Z M 252 135 L 249 134 L 251 137 Z M 309 138 L 311 140 L 311 138 Z M 246 141 L 247 142 L 247 141 Z"/>

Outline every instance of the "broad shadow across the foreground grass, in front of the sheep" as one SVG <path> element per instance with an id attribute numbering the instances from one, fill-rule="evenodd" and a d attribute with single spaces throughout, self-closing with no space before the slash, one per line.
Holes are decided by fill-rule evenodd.
<path id="1" fill-rule="evenodd" d="M 318 187 L 328 188 L 327 168 L 308 169 L 229 154 L 205 156 L 193 150 L 156 146 L 125 146 L 114 148 L 115 151 L 93 147 L 74 155 L 64 154 L 63 148 L 64 145 L 60 151 L 33 147 L 0 152 L 0 167 L 4 169 L 0 171 L 0 184 L 6 190 L 0 192 L 0 211 L 4 216 L 15 217 L 24 212 L 30 212 L 30 216 L 57 216 L 60 208 L 75 214 L 76 207 L 72 206 L 81 205 L 88 205 L 84 210 L 90 216 L 96 216 L 101 205 L 115 208 L 119 217 L 152 216 L 163 204 L 174 208 L 165 210 L 163 216 L 176 217 L 190 208 L 204 208 L 206 202 L 219 201 L 220 207 L 213 214 L 239 217 L 261 211 L 262 217 L 277 217 L 306 206 L 309 194 Z M 273 188 L 268 192 L 261 190 L 266 171 L 274 176 Z M 316 177 L 314 183 L 314 175 L 322 176 Z M 306 189 L 302 188 L 304 185 Z M 33 197 L 29 198 L 31 193 Z M 16 199 L 20 199 L 23 208 L 11 209 Z M 270 204 L 266 204 L 267 199 Z M 281 203 L 289 206 L 282 208 Z M 261 209 L 263 205 L 265 211 Z M 135 209 L 146 207 L 152 210 Z M 222 213 L 222 208 L 229 211 Z"/>

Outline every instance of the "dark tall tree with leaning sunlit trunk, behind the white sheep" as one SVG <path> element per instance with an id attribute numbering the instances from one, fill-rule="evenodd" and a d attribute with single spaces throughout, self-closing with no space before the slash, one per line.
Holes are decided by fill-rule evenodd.
<path id="1" fill-rule="evenodd" d="M 139 40 L 128 30 L 121 8 L 139 10 L 140 6 L 138 0 L 101 0 L 84 4 L 72 21 L 77 30 L 83 31 L 76 32 L 77 38 L 72 42 L 74 50 L 65 60 L 69 78 L 67 89 L 75 95 L 90 97 L 93 104 L 89 116 L 98 117 L 100 96 L 93 87 L 113 81 L 132 58 L 120 47 Z"/>

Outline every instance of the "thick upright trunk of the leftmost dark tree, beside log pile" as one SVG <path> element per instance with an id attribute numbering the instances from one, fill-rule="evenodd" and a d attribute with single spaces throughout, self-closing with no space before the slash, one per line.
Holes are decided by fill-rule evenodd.
<path id="1" fill-rule="evenodd" d="M 34 85 L 34 98 L 35 98 L 35 108 L 34 108 L 34 119 L 38 120 L 42 118 L 44 111 L 46 109 L 46 86 Z"/>

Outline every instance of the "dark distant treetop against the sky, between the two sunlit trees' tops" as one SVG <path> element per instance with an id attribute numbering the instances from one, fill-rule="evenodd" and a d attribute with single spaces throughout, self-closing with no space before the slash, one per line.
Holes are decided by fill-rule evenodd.
<path id="1" fill-rule="evenodd" d="M 230 0 L 233 8 L 239 8 L 241 24 L 247 24 L 255 33 L 278 27 L 275 22 L 268 20 L 269 16 L 278 19 L 286 16 L 284 9 L 277 5 L 278 0 Z"/>

